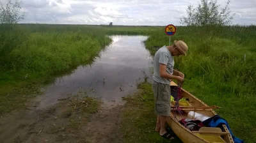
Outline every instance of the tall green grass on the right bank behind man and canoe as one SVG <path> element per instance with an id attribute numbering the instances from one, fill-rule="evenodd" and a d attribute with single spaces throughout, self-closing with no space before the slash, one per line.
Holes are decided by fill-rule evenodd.
<path id="1" fill-rule="evenodd" d="M 186 57 L 175 57 L 175 68 L 185 74 L 184 88 L 205 103 L 222 107 L 218 114 L 246 142 L 256 139 L 255 30 L 253 26 L 177 27 L 172 36 L 172 43 L 183 40 L 189 47 Z M 154 56 L 153 47 L 168 45 L 168 36 L 163 31 L 151 34 L 145 45 Z"/>

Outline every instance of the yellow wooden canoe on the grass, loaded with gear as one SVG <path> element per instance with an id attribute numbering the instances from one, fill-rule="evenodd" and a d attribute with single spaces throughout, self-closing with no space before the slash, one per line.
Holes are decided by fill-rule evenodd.
<path id="1" fill-rule="evenodd" d="M 170 87 L 177 86 L 175 82 L 171 82 Z M 188 113 L 190 111 L 194 111 L 196 113 L 202 114 L 204 116 L 212 117 L 216 115 L 216 112 L 214 112 L 213 109 L 207 109 L 209 108 L 208 105 L 206 105 L 204 102 L 193 96 L 193 94 L 189 93 L 185 89 L 181 88 L 182 97 L 188 98 L 188 101 L 182 102 L 182 105 L 180 107 L 185 107 L 184 110 L 182 110 L 182 115 L 180 116 L 179 113 L 176 113 L 176 118 L 174 116 L 174 113 L 177 112 L 175 110 L 171 111 L 171 116 L 167 117 L 167 124 L 172 128 L 173 132 L 177 137 L 179 137 L 180 140 L 184 143 L 220 143 L 220 142 L 231 142 L 234 143 L 234 140 L 232 139 L 232 136 L 230 135 L 230 132 L 228 131 L 227 126 L 222 125 L 224 128 L 224 131 L 221 131 L 220 128 L 211 128 L 211 127 L 202 127 L 199 131 L 191 131 L 182 124 L 179 123 L 179 120 L 182 118 L 193 118 L 191 116 L 188 116 Z M 184 103 L 186 103 L 184 105 Z M 170 103 L 172 106 L 174 105 L 173 102 Z M 196 109 L 194 110 L 193 109 Z M 205 108 L 206 107 L 206 108 Z M 194 119 L 194 118 L 193 118 Z"/>

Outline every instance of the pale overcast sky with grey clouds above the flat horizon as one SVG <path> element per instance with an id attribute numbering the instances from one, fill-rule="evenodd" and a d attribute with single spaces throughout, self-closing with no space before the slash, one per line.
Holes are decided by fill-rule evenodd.
<path id="1" fill-rule="evenodd" d="M 0 0 L 7 1 L 7 0 Z M 179 25 L 189 4 L 200 0 L 22 0 L 22 23 Z M 218 0 L 225 5 L 226 0 Z M 231 0 L 232 24 L 256 24 L 256 0 Z"/>

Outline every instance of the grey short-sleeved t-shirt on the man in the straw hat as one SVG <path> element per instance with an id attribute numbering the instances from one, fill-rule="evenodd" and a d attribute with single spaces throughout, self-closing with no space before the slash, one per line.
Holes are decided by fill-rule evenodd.
<path id="1" fill-rule="evenodd" d="M 164 79 L 163 77 L 160 77 L 160 63 L 166 64 L 166 72 L 169 74 L 173 74 L 173 67 L 174 67 L 174 60 L 171 52 L 167 49 L 167 47 L 164 45 L 159 50 L 157 50 L 155 56 L 154 56 L 154 75 L 153 79 L 156 82 L 160 82 L 162 84 L 169 84 L 171 80 Z"/>

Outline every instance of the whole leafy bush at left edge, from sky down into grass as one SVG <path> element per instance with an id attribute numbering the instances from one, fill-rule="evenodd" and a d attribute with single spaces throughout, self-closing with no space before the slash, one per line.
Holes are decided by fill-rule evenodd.
<path id="1" fill-rule="evenodd" d="M 20 1 L 15 0 L 12 3 L 12 0 L 8 0 L 6 6 L 3 6 L 0 0 L 0 61 L 3 61 L 4 56 L 8 56 L 10 52 L 20 47 L 28 37 L 26 31 L 16 25 L 24 19 L 24 13 L 20 11 L 20 4 Z"/>

